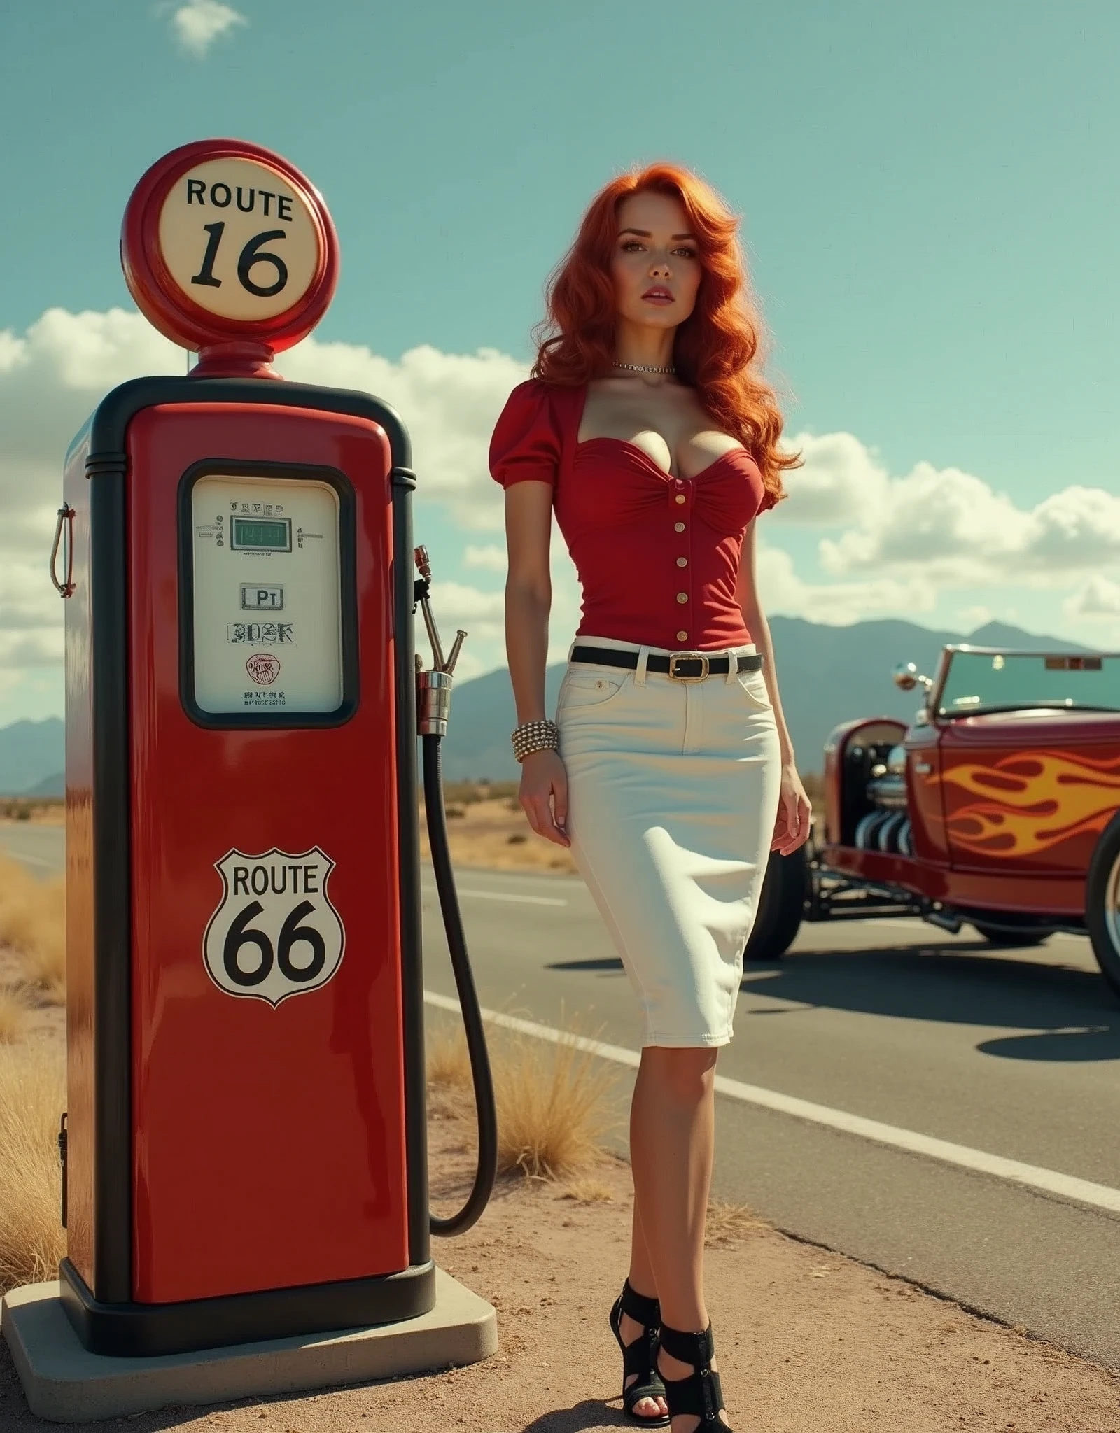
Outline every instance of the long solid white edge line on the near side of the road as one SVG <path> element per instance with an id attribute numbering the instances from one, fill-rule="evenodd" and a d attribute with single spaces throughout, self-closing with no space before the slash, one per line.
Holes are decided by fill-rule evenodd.
<path id="1" fill-rule="evenodd" d="M 459 1002 L 445 995 L 424 990 L 424 1000 L 440 1010 L 459 1013 Z M 637 1069 L 641 1059 L 637 1050 L 628 1050 L 621 1045 L 604 1045 L 601 1040 L 589 1040 L 585 1036 L 566 1035 L 564 1030 L 555 1030 L 549 1025 L 522 1020 L 513 1015 L 503 1015 L 500 1010 L 483 1010 L 482 1015 L 483 1019 L 502 1029 L 518 1030 L 522 1035 L 535 1035 L 538 1039 L 552 1040 L 554 1043 L 566 1043 L 571 1040 L 579 1050 L 598 1055 L 604 1060 L 614 1060 L 617 1065 L 628 1065 L 631 1069 Z M 1041 1189 L 1045 1194 L 1057 1194 L 1064 1199 L 1076 1199 L 1078 1204 L 1107 1209 L 1110 1214 L 1120 1214 L 1120 1189 L 1113 1189 L 1107 1184 L 1093 1184 L 1091 1179 L 1078 1179 L 1074 1175 L 1058 1174 L 1055 1169 L 1044 1169 L 1041 1165 L 1005 1159 L 1002 1155 L 990 1155 L 984 1149 L 971 1149 L 968 1145 L 957 1145 L 949 1139 L 935 1139 L 932 1135 L 919 1135 L 913 1129 L 901 1129 L 898 1125 L 885 1125 L 878 1119 L 849 1115 L 845 1109 L 815 1105 L 809 1099 L 780 1095 L 777 1091 L 764 1089 L 761 1085 L 746 1085 L 743 1080 L 730 1079 L 726 1075 L 716 1076 L 716 1092 L 727 1095 L 731 1099 L 740 1099 L 746 1105 L 774 1109 L 782 1115 L 792 1115 L 794 1119 L 807 1119 L 815 1125 L 839 1129 L 846 1135 L 858 1135 L 879 1145 L 906 1149 L 909 1154 L 926 1155 L 929 1159 L 939 1159 L 942 1164 L 957 1165 L 961 1169 L 990 1174 L 997 1179 L 1008 1179 L 1012 1184 L 1022 1184 L 1030 1189 Z"/>

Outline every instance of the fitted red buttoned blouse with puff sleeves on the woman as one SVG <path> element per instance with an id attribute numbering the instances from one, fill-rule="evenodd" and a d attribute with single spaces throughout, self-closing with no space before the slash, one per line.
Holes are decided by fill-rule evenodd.
<path id="1" fill-rule="evenodd" d="M 529 378 L 490 438 L 502 487 L 552 484 L 584 593 L 575 635 L 700 652 L 750 642 L 736 576 L 747 524 L 773 506 L 754 459 L 733 449 L 673 477 L 624 438 L 576 443 L 585 401 L 585 387 Z"/>

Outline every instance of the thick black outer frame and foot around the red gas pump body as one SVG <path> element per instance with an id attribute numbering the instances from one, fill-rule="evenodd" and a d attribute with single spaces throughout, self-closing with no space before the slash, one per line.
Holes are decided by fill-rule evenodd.
<path id="1" fill-rule="evenodd" d="M 130 738 L 125 474 L 129 421 L 155 404 L 247 403 L 367 418 L 387 436 L 393 469 L 393 632 L 397 747 L 397 871 L 404 1029 L 406 1175 L 410 1267 L 381 1280 L 315 1284 L 196 1300 L 132 1303 L 130 1103 Z M 86 430 L 83 428 L 83 433 Z M 80 437 L 75 441 L 80 441 Z M 93 1267 L 89 1290 L 69 1260 L 60 1265 L 63 1307 L 98 1353 L 158 1353 L 245 1338 L 389 1321 L 435 1304 L 427 1227 L 420 845 L 413 659 L 412 489 L 409 436 L 389 404 L 366 393 L 268 378 L 149 377 L 120 384 L 89 421 L 90 646 L 93 742 Z M 228 470 L 228 469 L 227 469 Z M 308 724 L 310 725 L 310 724 Z M 407 1294 L 399 1293 L 407 1290 Z M 221 1305 L 221 1307 L 219 1307 Z M 228 1307 L 229 1323 L 224 1323 Z M 334 1308 L 334 1313 L 330 1310 Z M 192 1323 L 196 1320 L 196 1323 Z M 201 1321 L 201 1323 L 199 1323 Z"/>

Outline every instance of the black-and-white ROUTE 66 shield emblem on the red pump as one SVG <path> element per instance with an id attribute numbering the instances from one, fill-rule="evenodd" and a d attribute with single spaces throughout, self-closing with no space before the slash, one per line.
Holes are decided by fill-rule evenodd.
<path id="1" fill-rule="evenodd" d="M 224 894 L 202 937 L 211 980 L 227 995 L 280 1005 L 324 986 L 343 962 L 346 930 L 327 896 L 334 861 L 320 847 L 293 856 L 227 851 Z"/>

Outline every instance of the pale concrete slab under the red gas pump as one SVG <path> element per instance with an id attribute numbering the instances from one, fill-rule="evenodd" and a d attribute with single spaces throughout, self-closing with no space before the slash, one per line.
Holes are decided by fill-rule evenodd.
<path id="1" fill-rule="evenodd" d="M 24 1284 L 0 1303 L 27 1406 L 52 1423 L 151 1413 L 169 1403 L 343 1387 L 478 1363 L 498 1350 L 498 1318 L 478 1294 L 436 1270 L 436 1307 L 419 1318 L 374 1328 L 204 1348 L 153 1358 L 108 1358 L 77 1341 L 57 1281 Z"/>

